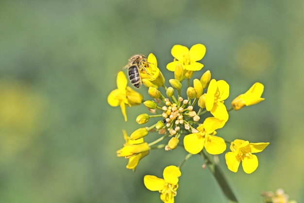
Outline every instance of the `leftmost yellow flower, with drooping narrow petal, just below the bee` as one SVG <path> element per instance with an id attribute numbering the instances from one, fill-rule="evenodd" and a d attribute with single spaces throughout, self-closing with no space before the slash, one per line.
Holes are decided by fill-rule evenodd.
<path id="1" fill-rule="evenodd" d="M 128 106 L 139 105 L 143 99 L 143 96 L 127 86 L 128 81 L 125 74 L 120 71 L 117 75 L 117 89 L 110 92 L 108 95 L 108 103 L 111 106 L 120 105 L 122 115 L 125 121 L 127 121 L 126 104 Z"/>

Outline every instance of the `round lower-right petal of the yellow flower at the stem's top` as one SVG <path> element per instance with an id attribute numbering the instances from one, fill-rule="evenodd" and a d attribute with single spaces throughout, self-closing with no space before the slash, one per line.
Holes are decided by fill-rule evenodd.
<path id="1" fill-rule="evenodd" d="M 209 135 L 209 140 L 204 145 L 206 151 L 210 154 L 220 154 L 226 150 L 226 143 L 223 138 Z"/>

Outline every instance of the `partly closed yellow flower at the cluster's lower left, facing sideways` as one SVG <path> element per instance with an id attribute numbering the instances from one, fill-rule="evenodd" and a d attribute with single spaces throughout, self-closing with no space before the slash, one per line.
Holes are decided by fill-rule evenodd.
<path id="1" fill-rule="evenodd" d="M 126 143 L 123 148 L 116 152 L 117 156 L 129 158 L 129 163 L 126 168 L 135 171 L 139 160 L 149 153 L 148 143 L 144 142 L 144 138 L 130 140 L 130 137 L 127 135 L 125 130 L 123 130 L 123 137 L 126 140 Z"/>

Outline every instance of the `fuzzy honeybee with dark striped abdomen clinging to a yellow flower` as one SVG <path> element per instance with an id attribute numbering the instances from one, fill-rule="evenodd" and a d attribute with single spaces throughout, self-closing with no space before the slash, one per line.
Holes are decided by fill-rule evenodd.
<path id="1" fill-rule="evenodd" d="M 142 70 L 147 72 L 145 65 L 148 63 L 149 62 L 147 61 L 146 56 L 142 54 L 135 54 L 131 56 L 131 58 L 129 58 L 128 63 L 124 67 L 122 67 L 121 70 L 128 68 L 129 79 L 131 84 L 134 87 L 139 88 L 141 86 L 141 80 L 142 80 L 140 76 L 140 72 Z"/>

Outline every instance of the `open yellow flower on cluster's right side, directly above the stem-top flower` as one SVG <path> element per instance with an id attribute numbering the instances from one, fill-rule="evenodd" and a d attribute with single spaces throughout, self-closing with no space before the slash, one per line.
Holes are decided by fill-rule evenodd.
<path id="1" fill-rule="evenodd" d="M 206 110 L 221 120 L 228 120 L 228 112 L 224 100 L 229 96 L 229 85 L 224 80 L 212 79 L 205 94 Z"/>

